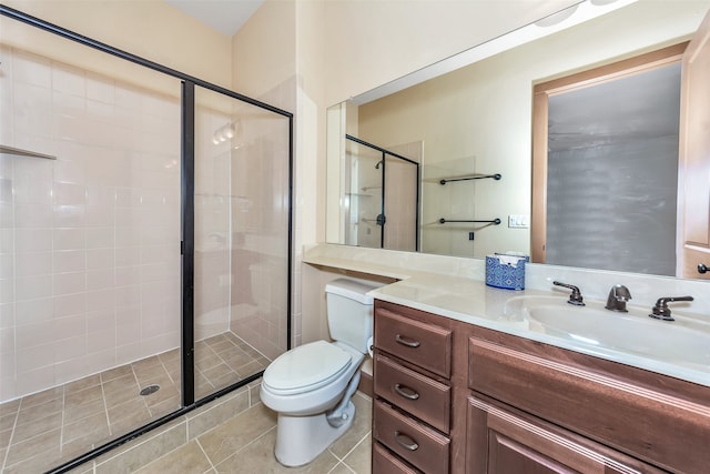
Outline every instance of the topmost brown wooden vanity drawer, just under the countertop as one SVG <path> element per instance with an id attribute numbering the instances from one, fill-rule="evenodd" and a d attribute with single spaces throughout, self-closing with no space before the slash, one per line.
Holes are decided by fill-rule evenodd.
<path id="1" fill-rule="evenodd" d="M 375 347 L 450 377 L 452 331 L 404 317 L 378 307 L 375 314 Z"/>

